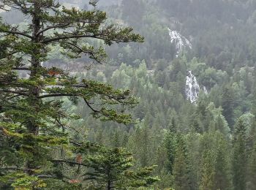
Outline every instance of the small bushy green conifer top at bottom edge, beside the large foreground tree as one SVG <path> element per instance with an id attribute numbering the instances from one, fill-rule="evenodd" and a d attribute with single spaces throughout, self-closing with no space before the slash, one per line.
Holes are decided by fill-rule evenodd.
<path id="1" fill-rule="evenodd" d="M 92 172 L 86 172 L 85 179 L 96 181 L 94 189 L 129 189 L 151 186 L 158 178 L 151 177 L 154 167 L 131 170 L 134 159 L 132 153 L 124 148 L 100 148 L 97 155 L 89 157 L 88 166 Z"/>

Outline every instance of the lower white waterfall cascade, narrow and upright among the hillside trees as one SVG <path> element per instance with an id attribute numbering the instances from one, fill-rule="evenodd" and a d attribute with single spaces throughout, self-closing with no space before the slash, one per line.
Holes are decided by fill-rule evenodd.
<path id="1" fill-rule="evenodd" d="M 192 74 L 192 71 L 187 73 L 186 77 L 186 96 L 187 99 L 194 103 L 199 95 L 200 86 L 197 83 L 197 78 Z"/>

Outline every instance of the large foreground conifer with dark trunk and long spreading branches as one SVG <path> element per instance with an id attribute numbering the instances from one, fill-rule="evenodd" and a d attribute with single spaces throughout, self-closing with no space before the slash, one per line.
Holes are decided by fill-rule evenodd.
<path id="1" fill-rule="evenodd" d="M 102 40 L 105 45 L 143 41 L 143 37 L 132 33 L 132 28 L 105 25 L 106 13 L 95 7 L 96 1 L 90 3 L 93 9 L 78 10 L 61 7 L 58 1 L 1 1 L 1 6 L 11 7 L 31 19 L 23 28 L 0 23 L 0 45 L 7 47 L 0 53 L 0 98 L 3 100 L 0 110 L 4 115 L 0 130 L 4 139 L 10 139 L 17 158 L 8 163 L 8 167 L 0 165 L 1 171 L 5 170 L 1 172 L 1 180 L 14 181 L 15 188 L 46 186 L 41 179 L 45 175 L 58 180 L 64 178 L 63 175 L 56 177 L 53 172 L 54 166 L 64 159 L 54 159 L 53 155 L 59 155 L 51 150 L 78 145 L 70 139 L 69 128 L 63 122 L 77 117 L 67 114 L 62 109 L 63 102 L 54 97 L 67 96 L 74 103 L 83 100 L 94 118 L 102 121 L 131 121 L 130 115 L 113 107 L 133 107 L 137 101 L 129 91 L 115 90 L 92 80 L 78 80 L 56 66 L 42 66 L 52 48 L 69 58 L 88 56 L 102 62 L 106 57 L 104 48 L 90 45 L 89 39 Z M 21 70 L 29 72 L 29 77 L 20 77 Z"/>

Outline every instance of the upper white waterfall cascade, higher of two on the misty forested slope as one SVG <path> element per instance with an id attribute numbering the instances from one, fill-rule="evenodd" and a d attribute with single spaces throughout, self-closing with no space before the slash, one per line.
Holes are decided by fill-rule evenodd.
<path id="1" fill-rule="evenodd" d="M 178 56 L 178 54 L 180 54 L 182 50 L 185 50 L 186 48 L 192 49 L 192 45 L 186 37 L 183 37 L 178 33 L 178 31 L 172 31 L 170 28 L 168 28 L 168 30 L 170 35 L 170 42 L 175 43 L 176 45 L 176 56 Z"/>

